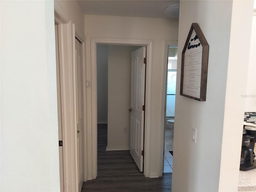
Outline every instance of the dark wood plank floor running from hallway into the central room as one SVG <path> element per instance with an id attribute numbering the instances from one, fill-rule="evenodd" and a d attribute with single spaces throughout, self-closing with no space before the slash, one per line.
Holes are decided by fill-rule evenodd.
<path id="1" fill-rule="evenodd" d="M 106 151 L 107 124 L 98 124 L 98 177 L 84 182 L 82 192 L 170 192 L 172 174 L 146 178 L 128 150 Z"/>

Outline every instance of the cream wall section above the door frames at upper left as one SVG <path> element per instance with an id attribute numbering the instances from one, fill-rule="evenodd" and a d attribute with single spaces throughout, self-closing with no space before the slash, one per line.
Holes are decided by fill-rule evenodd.
<path id="1" fill-rule="evenodd" d="M 54 0 L 54 9 L 67 22 L 75 24 L 76 35 L 84 38 L 84 14 L 76 0 Z"/>

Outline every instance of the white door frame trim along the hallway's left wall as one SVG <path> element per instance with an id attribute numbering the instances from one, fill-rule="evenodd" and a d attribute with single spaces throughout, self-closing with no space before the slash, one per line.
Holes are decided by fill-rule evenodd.
<path id="1" fill-rule="evenodd" d="M 82 42 L 83 81 L 86 79 L 85 38 L 78 36 L 75 26 L 67 22 L 55 9 L 54 20 L 58 24 L 59 57 L 60 57 L 60 89 L 62 106 L 62 141 L 63 141 L 63 173 L 64 191 L 78 192 L 78 162 L 76 138 L 76 70 L 75 70 L 75 37 Z M 84 93 L 84 122 L 86 122 L 86 86 Z M 84 181 L 86 173 L 86 123 L 84 123 Z M 66 178 L 66 179 L 65 179 Z"/>

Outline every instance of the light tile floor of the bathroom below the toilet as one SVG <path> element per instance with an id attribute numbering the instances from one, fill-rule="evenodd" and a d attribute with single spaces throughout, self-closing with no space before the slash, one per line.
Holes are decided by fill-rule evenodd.
<path id="1" fill-rule="evenodd" d="M 164 173 L 172 173 L 172 154 L 173 151 L 173 136 L 171 130 L 166 129 L 164 135 Z"/>

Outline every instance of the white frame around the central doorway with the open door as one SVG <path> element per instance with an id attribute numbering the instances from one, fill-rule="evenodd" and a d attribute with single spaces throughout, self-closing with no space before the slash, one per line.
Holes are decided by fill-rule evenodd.
<path id="1" fill-rule="evenodd" d="M 97 44 L 114 44 L 114 45 L 134 45 L 146 46 L 146 92 L 145 92 L 145 125 L 144 125 L 144 176 L 150 177 L 150 116 L 151 116 L 151 84 L 152 84 L 152 52 L 153 40 L 132 40 L 132 39 L 109 39 L 109 38 L 91 38 L 91 68 L 92 68 L 92 127 L 88 127 L 88 140 L 91 138 L 92 147 L 87 151 L 92 152 L 92 175 L 88 179 L 97 177 Z M 90 154 L 88 154 L 90 156 Z"/>

